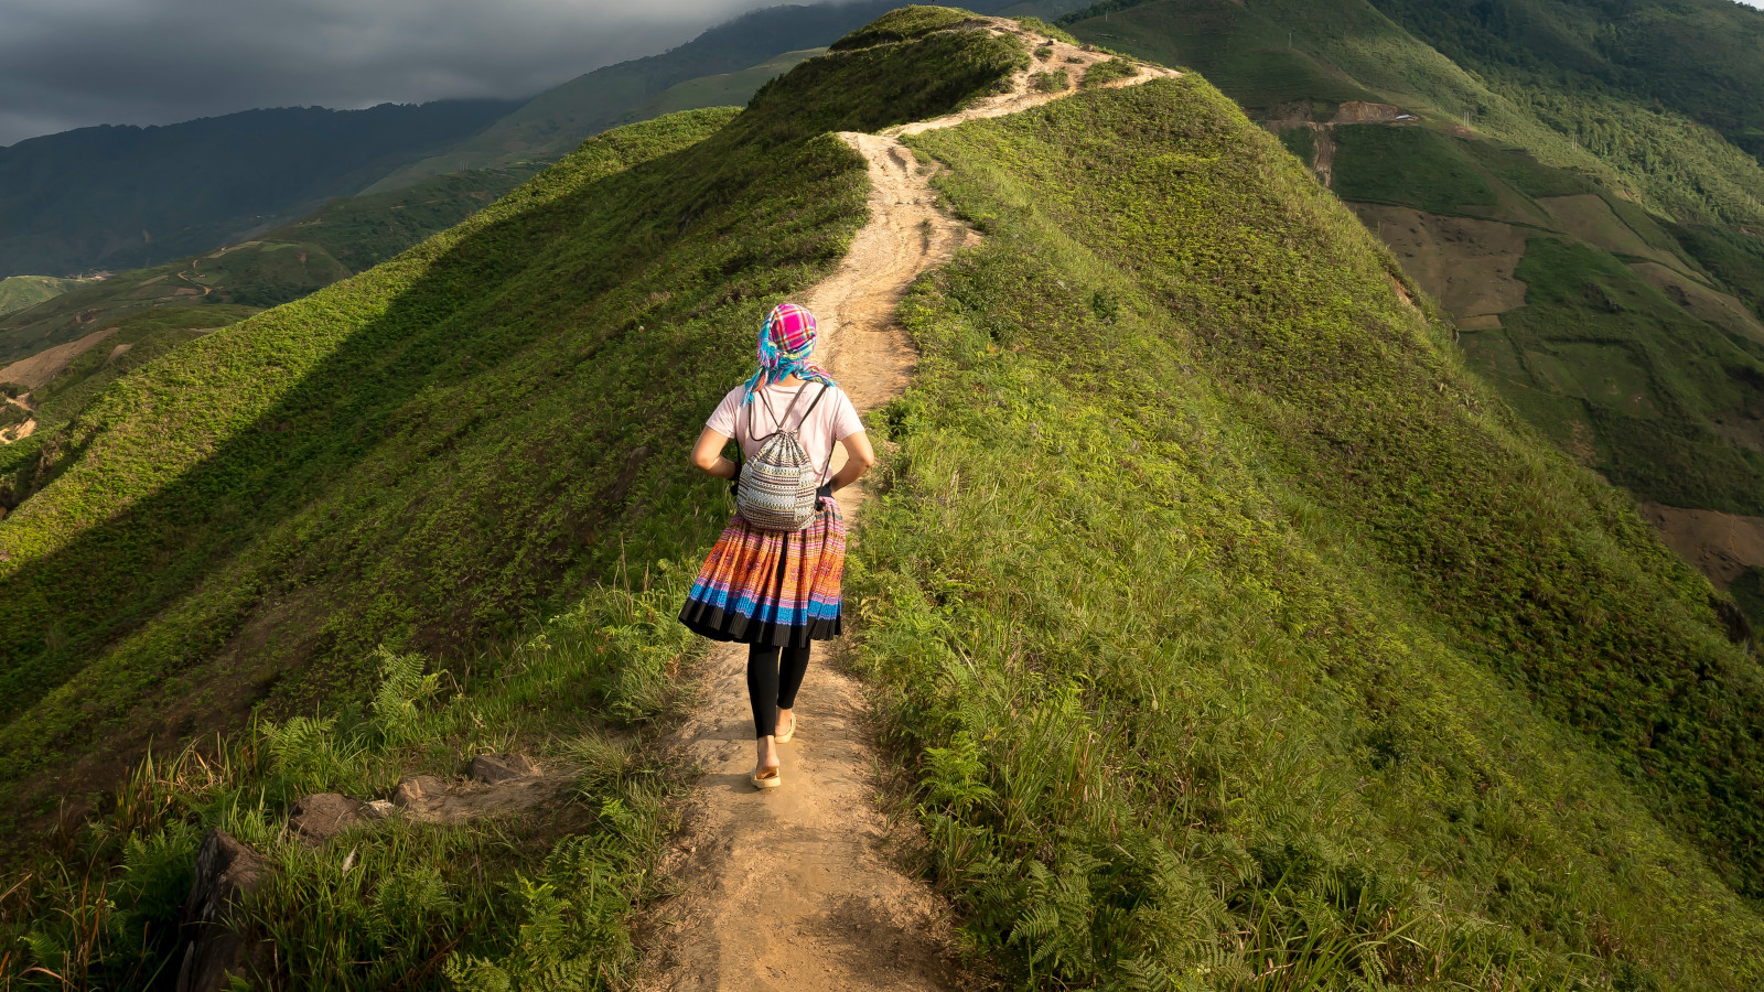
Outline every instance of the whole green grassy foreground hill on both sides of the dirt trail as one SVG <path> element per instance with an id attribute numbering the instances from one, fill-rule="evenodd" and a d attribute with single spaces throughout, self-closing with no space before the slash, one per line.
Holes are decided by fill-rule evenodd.
<path id="1" fill-rule="evenodd" d="M 640 980 L 670 616 L 729 512 L 679 455 L 864 222 L 829 131 L 1032 64 L 965 21 L 602 134 L 55 431 L 0 521 L 0 981 L 164 974 L 213 826 L 273 865 L 242 932 L 270 985 Z M 1277 136 L 1191 72 L 907 141 L 984 240 L 901 307 L 848 660 L 979 980 L 1764 983 L 1757 658 Z M 1558 270 L 1598 265 L 1575 217 Z M 568 801 L 288 828 L 515 747 Z"/>

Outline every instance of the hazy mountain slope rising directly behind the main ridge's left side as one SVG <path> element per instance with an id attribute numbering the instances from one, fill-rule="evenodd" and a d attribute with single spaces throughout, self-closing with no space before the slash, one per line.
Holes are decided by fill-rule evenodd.
<path id="1" fill-rule="evenodd" d="M 744 104 L 767 79 L 811 55 L 804 49 L 833 44 L 900 5 L 898 0 L 859 0 L 767 7 L 743 14 L 662 55 L 594 69 L 547 90 L 482 134 L 393 171 L 369 187 L 369 192 L 399 189 L 457 169 L 556 161 L 589 136 L 619 124 L 679 109 Z M 1002 4 L 995 0 L 968 7 L 988 12 Z M 780 58 L 787 53 L 790 58 Z M 660 99 L 679 83 L 713 76 L 723 79 L 706 81 L 697 92 L 688 88 L 686 95 L 695 99 Z"/>

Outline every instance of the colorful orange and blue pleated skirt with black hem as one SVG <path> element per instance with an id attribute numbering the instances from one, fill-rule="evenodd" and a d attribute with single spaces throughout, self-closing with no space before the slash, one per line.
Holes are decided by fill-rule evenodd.
<path id="1" fill-rule="evenodd" d="M 831 500 L 799 531 L 762 531 L 741 514 L 699 568 L 679 621 L 713 641 L 803 648 L 843 630 L 845 519 Z"/>

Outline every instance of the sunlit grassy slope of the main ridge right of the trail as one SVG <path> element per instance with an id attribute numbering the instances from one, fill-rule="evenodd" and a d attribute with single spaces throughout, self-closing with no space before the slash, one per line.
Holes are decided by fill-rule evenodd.
<path id="1" fill-rule="evenodd" d="M 912 143 L 988 244 L 905 305 L 854 598 L 974 948 L 1046 988 L 1764 978 L 1723 884 L 1755 664 L 1272 136 L 1184 78 Z"/>

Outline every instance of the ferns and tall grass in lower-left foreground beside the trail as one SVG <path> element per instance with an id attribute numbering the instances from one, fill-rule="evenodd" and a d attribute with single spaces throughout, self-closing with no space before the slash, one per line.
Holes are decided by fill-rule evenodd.
<path id="1" fill-rule="evenodd" d="M 617 988 L 630 918 L 656 884 L 676 768 L 646 743 L 677 710 L 690 635 L 681 581 L 596 590 L 506 655 L 473 658 L 462 688 L 420 655 L 377 651 L 376 692 L 333 715 L 259 722 L 198 750 L 148 757 L 60 856 L 7 870 L 0 983 L 145 988 L 176 974 L 198 845 L 226 830 L 273 868 L 242 937 L 302 988 L 385 988 L 439 976 L 466 988 Z M 430 826 L 392 817 L 310 844 L 286 807 L 314 791 L 388 793 L 522 750 L 575 782 L 517 817 Z M 25 872 L 23 868 L 30 868 Z M 14 884 L 16 883 L 16 884 Z M 273 962 L 273 966 L 272 966 Z M 270 976 L 265 976 L 270 978 Z"/>

